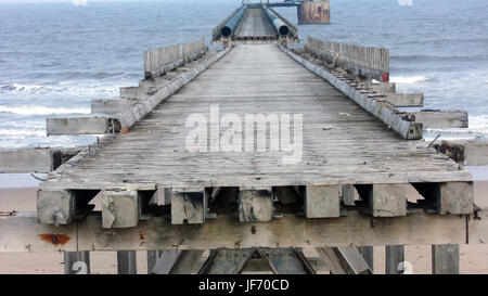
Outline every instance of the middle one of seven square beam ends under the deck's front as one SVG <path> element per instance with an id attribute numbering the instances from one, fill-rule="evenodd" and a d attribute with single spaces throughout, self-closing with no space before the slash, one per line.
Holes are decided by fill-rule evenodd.
<path id="1" fill-rule="evenodd" d="M 273 192 L 271 188 L 241 188 L 237 206 L 241 222 L 271 221 Z"/>

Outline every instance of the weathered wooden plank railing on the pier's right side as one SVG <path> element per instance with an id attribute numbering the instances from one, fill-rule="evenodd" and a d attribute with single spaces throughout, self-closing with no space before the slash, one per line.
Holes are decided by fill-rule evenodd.
<path id="1" fill-rule="evenodd" d="M 322 41 L 308 37 L 305 48 L 313 55 L 359 76 L 389 80 L 389 50 Z"/>

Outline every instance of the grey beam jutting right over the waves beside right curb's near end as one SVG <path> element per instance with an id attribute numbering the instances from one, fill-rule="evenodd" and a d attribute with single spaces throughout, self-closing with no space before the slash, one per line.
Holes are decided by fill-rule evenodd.
<path id="1" fill-rule="evenodd" d="M 423 110 L 411 113 L 424 128 L 467 128 L 467 112 Z"/>

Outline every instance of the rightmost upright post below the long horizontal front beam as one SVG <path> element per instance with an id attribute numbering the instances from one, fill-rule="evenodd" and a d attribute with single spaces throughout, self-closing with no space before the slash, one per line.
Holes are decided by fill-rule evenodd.
<path id="1" fill-rule="evenodd" d="M 459 245 L 432 245 L 432 273 L 459 274 Z"/>

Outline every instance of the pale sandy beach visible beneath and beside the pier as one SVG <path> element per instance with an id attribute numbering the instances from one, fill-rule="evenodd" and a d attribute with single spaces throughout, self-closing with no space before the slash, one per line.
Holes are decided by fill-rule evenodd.
<path id="1" fill-rule="evenodd" d="M 36 188 L 0 189 L 0 210 L 35 211 Z M 475 204 L 488 207 L 488 182 L 475 182 Z M 409 198 L 415 198 L 415 192 L 409 192 Z M 115 252 L 91 252 L 91 273 L 117 273 Z M 431 273 L 431 246 L 406 246 L 406 260 L 413 267 L 413 273 Z M 0 274 L 52 274 L 64 272 L 62 253 L 0 253 Z M 385 248 L 374 247 L 374 273 L 384 273 Z M 138 273 L 147 272 L 146 255 L 138 252 Z M 488 246 L 460 246 L 461 273 L 488 273 Z"/>

